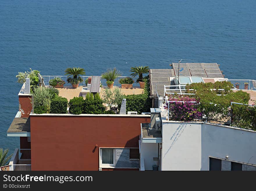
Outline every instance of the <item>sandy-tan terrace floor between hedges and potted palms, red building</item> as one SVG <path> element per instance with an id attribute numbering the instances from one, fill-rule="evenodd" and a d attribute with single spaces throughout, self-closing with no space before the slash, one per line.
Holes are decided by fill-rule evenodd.
<path id="1" fill-rule="evenodd" d="M 64 88 L 57 88 L 59 90 L 59 96 L 67 98 L 69 101 L 70 99 L 73 99 L 74 97 L 82 96 L 81 90 L 83 86 L 79 86 L 78 88 L 72 88 L 72 86 L 64 86 Z M 118 88 L 118 87 L 114 87 Z M 102 94 L 104 92 L 104 87 L 100 90 L 100 97 L 102 97 Z M 142 94 L 143 89 L 139 87 L 134 87 L 133 89 L 121 89 L 122 94 L 130 95 L 130 94 Z"/>

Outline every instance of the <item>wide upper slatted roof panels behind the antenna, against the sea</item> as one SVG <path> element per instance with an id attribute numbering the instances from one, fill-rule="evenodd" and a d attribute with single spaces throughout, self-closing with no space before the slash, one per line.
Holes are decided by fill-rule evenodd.
<path id="1" fill-rule="evenodd" d="M 175 76 L 200 76 L 203 78 L 223 78 L 217 63 L 172 63 Z"/>

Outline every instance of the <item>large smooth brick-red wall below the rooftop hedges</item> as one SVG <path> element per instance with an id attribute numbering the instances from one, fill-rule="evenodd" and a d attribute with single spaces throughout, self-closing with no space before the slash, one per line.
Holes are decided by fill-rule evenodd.
<path id="1" fill-rule="evenodd" d="M 99 147 L 138 148 L 140 124 L 150 122 L 150 117 L 135 116 L 30 119 L 32 170 L 98 170 Z"/>

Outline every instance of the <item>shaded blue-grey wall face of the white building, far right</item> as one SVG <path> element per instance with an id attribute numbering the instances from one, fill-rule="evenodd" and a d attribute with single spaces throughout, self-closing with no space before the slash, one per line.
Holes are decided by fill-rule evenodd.
<path id="1" fill-rule="evenodd" d="M 202 124 L 202 168 L 208 170 L 209 156 L 256 164 L 256 132 Z"/>

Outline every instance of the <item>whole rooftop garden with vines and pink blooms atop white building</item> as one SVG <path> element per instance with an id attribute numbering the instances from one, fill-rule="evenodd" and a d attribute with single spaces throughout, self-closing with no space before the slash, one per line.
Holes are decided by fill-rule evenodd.
<path id="1" fill-rule="evenodd" d="M 256 107 L 232 104 L 248 104 L 250 94 L 241 90 L 234 92 L 230 82 L 192 83 L 186 85 L 186 93 L 193 95 L 168 95 L 164 108 L 169 120 L 216 121 L 241 128 L 256 130 Z"/>

